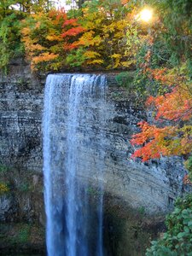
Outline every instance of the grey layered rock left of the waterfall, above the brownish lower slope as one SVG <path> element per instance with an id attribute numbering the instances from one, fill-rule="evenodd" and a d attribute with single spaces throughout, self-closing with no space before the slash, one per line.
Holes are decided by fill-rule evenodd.
<path id="1" fill-rule="evenodd" d="M 41 119 L 44 84 L 25 63 L 10 66 L 0 80 L 1 162 L 38 171 L 42 166 Z"/>

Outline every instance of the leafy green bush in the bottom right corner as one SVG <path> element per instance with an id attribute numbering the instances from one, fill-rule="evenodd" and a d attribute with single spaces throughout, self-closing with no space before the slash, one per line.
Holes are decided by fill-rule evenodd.
<path id="1" fill-rule="evenodd" d="M 192 256 L 192 194 L 177 199 L 166 226 L 163 238 L 152 241 L 146 256 Z"/>

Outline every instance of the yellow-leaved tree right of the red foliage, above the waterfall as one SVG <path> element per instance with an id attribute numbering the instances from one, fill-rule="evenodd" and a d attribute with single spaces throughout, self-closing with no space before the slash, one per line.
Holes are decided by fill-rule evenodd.
<path id="1" fill-rule="evenodd" d="M 119 1 L 92 1 L 84 3 L 82 12 L 78 22 L 84 31 L 79 33 L 79 38 L 74 35 L 73 43 L 68 45 L 71 49 L 67 56 L 69 65 L 106 69 L 130 67 L 137 47 L 129 49 L 136 42 L 137 28 L 131 26 L 127 9 Z M 131 38 L 134 39 L 131 41 Z M 78 48 L 78 51 L 73 50 Z"/>

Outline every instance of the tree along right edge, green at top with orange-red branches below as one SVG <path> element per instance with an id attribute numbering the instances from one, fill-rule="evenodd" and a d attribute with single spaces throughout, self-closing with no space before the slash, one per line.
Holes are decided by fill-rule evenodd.
<path id="1" fill-rule="evenodd" d="M 154 3 L 154 1 L 150 2 Z M 154 34 L 153 47 L 155 44 L 158 45 L 158 42 L 163 42 L 168 51 L 166 51 L 165 58 L 161 55 L 161 49 L 157 48 L 154 51 L 153 48 L 149 55 L 148 52 L 144 55 L 143 65 L 140 66 L 140 73 L 145 75 L 149 84 L 153 86 L 154 81 L 156 81 L 159 88 L 163 89 L 160 93 L 149 96 L 146 102 L 149 111 L 154 115 L 154 120 L 150 123 L 146 121 L 139 123 L 141 132 L 134 135 L 131 140 L 133 145 L 141 147 L 136 149 L 132 157 L 140 157 L 143 161 L 170 155 L 183 155 L 187 160 L 191 154 L 192 85 L 189 64 L 190 46 L 183 45 L 182 42 L 175 45 L 171 36 L 174 33 L 174 38 L 186 36 L 186 39 L 189 40 L 191 21 L 189 21 L 189 11 L 185 4 L 189 1 L 183 1 L 182 7 L 186 9 L 186 12 L 183 11 L 183 15 L 178 8 L 181 7 L 181 2 L 174 1 L 174 7 L 172 1 L 158 2 L 156 5 L 154 3 L 156 9 L 160 11 L 162 30 L 160 33 Z M 179 23 L 181 20 L 183 20 L 182 24 Z M 178 24 L 182 26 L 182 30 L 177 27 Z M 166 38 L 167 33 L 170 40 Z M 154 62 L 154 55 L 158 54 L 159 60 L 163 59 L 163 62 Z M 173 56 L 175 61 L 172 61 Z M 157 63 L 159 67 L 158 65 L 155 67 Z"/>

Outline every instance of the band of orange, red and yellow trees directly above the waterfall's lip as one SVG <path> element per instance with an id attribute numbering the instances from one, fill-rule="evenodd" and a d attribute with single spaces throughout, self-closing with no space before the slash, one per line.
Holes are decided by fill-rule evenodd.
<path id="1" fill-rule="evenodd" d="M 127 68 L 136 62 L 138 49 L 132 20 L 124 4 L 108 1 L 84 3 L 76 15 L 39 11 L 22 21 L 22 42 L 33 70 Z"/>

